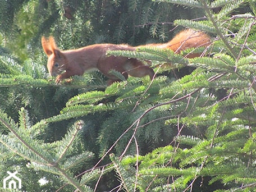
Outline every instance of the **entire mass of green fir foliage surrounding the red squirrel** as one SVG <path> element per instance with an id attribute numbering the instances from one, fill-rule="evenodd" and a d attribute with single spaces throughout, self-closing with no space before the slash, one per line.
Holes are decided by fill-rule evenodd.
<path id="1" fill-rule="evenodd" d="M 256 189 L 253 1 L 1 3 L 0 40 L 1 46 L 8 45 L 0 52 L 0 169 L 29 177 L 31 183 L 22 190 Z M 180 12 L 173 11 L 176 4 Z M 14 15 L 1 14 L 10 6 L 17 6 Z M 204 20 L 179 17 L 188 7 L 200 10 Z M 16 27 L 21 18 L 30 21 L 33 38 L 21 29 L 11 42 L 17 28 L 3 24 L 7 17 Z M 42 48 L 34 50 L 39 47 L 35 39 L 50 33 L 62 49 L 104 41 L 143 44 L 150 35 L 165 40 L 170 26 L 162 23 L 173 20 L 208 32 L 211 45 L 181 54 L 154 47 L 109 52 L 150 61 L 153 80 L 129 77 L 107 86 L 105 77 L 93 72 L 56 85 L 47 77 Z M 23 47 L 26 54 L 8 54 L 16 42 L 26 42 L 23 38 L 29 42 Z M 204 57 L 184 58 L 190 52 Z M 195 70 L 181 78 L 169 73 L 184 67 Z M 40 186 L 40 179 L 47 184 Z"/>

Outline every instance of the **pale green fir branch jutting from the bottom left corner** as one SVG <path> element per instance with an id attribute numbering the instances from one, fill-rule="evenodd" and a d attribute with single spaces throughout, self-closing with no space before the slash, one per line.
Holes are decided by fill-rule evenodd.
<path id="1" fill-rule="evenodd" d="M 75 154 L 72 149 L 73 143 L 78 142 L 79 131 L 83 128 L 84 122 L 77 121 L 62 140 L 55 143 L 43 143 L 42 140 L 36 139 L 36 137 L 38 129 L 47 126 L 45 121 L 34 126 L 31 125 L 28 112 L 24 108 L 21 108 L 19 115 L 20 121 L 19 124 L 16 124 L 11 118 L 7 117 L 6 113 L 1 112 L 1 130 L 10 131 L 8 134 L 1 135 L 0 142 L 4 147 L 11 150 L 13 154 L 26 159 L 29 168 L 60 175 L 63 180 L 80 191 L 93 191 L 89 186 L 81 185 L 70 173 L 72 168 L 81 166 L 81 164 L 93 158 L 91 152 L 85 151 L 81 154 Z M 71 154 L 72 156 L 69 157 Z"/>

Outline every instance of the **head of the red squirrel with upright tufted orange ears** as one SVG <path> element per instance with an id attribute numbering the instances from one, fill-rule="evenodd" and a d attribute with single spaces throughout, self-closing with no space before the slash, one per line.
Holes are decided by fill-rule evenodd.
<path id="1" fill-rule="evenodd" d="M 53 36 L 49 39 L 42 36 L 41 39 L 44 52 L 48 56 L 47 68 L 50 76 L 57 76 L 66 70 L 66 58 L 64 54 L 58 49 Z"/>

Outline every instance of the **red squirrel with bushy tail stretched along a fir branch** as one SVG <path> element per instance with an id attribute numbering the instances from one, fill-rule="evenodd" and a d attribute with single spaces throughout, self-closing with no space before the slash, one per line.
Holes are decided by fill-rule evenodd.
<path id="1" fill-rule="evenodd" d="M 203 32 L 191 29 L 181 31 L 170 42 L 163 44 L 148 44 L 138 47 L 155 46 L 159 48 L 169 48 L 175 53 L 180 53 L 187 48 L 207 46 L 210 38 Z M 125 76 L 144 77 L 149 75 L 152 80 L 154 71 L 151 67 L 136 58 L 126 58 L 120 56 L 106 56 L 107 51 L 126 50 L 136 51 L 138 47 L 131 47 L 124 44 L 94 44 L 79 49 L 61 51 L 58 49 L 52 36 L 46 39 L 42 36 L 42 47 L 48 56 L 47 68 L 50 76 L 56 76 L 56 84 L 61 80 L 73 75 L 83 75 L 86 71 L 99 70 L 109 78 L 108 84 L 112 84 L 119 79 L 115 75 L 109 74 L 110 70 L 116 70 Z M 200 55 L 189 54 L 189 58 Z M 65 72 L 63 72 L 65 71 Z"/>

